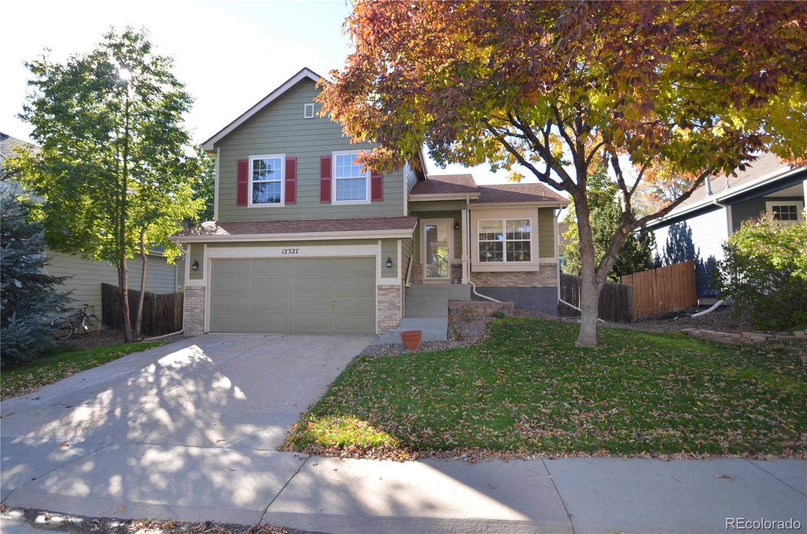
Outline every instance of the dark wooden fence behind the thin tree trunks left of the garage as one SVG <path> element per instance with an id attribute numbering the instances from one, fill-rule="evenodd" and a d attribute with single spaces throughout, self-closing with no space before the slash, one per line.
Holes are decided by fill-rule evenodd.
<path id="1" fill-rule="evenodd" d="M 135 323 L 140 291 L 129 290 L 129 311 L 132 326 Z M 182 330 L 182 293 L 152 293 L 143 298 L 143 326 L 140 332 L 148 336 L 162 336 Z M 112 284 L 101 284 L 101 322 L 111 328 L 123 328 L 120 316 L 120 290 Z"/>

